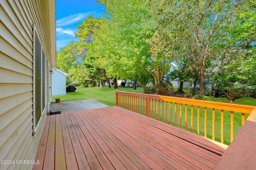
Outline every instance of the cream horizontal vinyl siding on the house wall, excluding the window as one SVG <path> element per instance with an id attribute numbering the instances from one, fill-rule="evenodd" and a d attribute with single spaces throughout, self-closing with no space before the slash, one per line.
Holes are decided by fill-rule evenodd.
<path id="1" fill-rule="evenodd" d="M 51 63 L 48 0 L 1 0 L 0 16 L 0 160 L 34 160 L 46 120 L 48 95 L 51 99 L 51 92 L 48 92 L 48 63 Z M 46 109 L 34 136 L 33 23 L 46 54 Z M 0 169 L 32 167 L 0 165 Z"/>

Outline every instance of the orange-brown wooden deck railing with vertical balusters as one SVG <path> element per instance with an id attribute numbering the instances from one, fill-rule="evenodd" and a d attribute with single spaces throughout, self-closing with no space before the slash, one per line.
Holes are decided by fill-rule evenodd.
<path id="1" fill-rule="evenodd" d="M 116 105 L 224 144 L 232 142 L 254 109 L 247 105 L 122 91 L 116 91 Z"/>

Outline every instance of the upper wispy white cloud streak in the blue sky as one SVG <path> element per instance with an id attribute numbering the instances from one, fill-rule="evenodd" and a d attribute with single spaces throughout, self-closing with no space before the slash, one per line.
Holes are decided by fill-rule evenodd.
<path id="1" fill-rule="evenodd" d="M 89 14 L 92 14 L 92 16 L 101 16 L 101 13 L 95 12 L 95 11 L 80 13 L 80 14 L 73 14 L 57 20 L 56 26 L 59 27 L 59 26 L 68 26 L 68 25 L 74 24 L 78 21 L 82 21 L 83 19 L 87 18 Z"/>

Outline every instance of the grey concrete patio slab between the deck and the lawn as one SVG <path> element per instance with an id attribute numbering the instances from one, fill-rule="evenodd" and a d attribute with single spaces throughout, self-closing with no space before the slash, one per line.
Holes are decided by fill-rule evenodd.
<path id="1" fill-rule="evenodd" d="M 96 100 L 64 101 L 60 103 L 53 102 L 50 106 L 50 111 L 61 111 L 61 113 L 69 113 L 89 109 L 98 109 L 102 107 L 108 107 L 108 105 L 100 103 Z"/>

